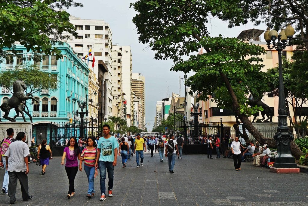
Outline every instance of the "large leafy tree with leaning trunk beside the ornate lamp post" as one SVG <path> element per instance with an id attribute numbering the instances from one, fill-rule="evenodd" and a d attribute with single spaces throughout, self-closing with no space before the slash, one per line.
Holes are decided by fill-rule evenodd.
<path id="1" fill-rule="evenodd" d="M 199 99 L 215 92 L 218 106 L 231 107 L 260 144 L 277 147 L 276 141 L 265 138 L 248 119 L 261 108 L 245 104 L 249 92 L 258 97 L 266 89 L 261 65 L 254 63 L 261 61 L 258 56 L 264 50 L 236 39 L 208 37 L 206 23 L 212 17 L 228 20 L 230 25 L 247 22 L 239 1 L 140 0 L 131 6 L 138 12 L 133 23 L 140 35 L 139 41 L 156 52 L 156 59 L 172 59 L 174 71 L 196 72 L 186 84 L 199 92 Z M 192 55 L 188 61 L 181 58 L 202 47 L 207 53 Z M 302 154 L 293 142 L 291 151 L 297 159 Z"/>

